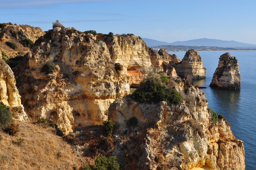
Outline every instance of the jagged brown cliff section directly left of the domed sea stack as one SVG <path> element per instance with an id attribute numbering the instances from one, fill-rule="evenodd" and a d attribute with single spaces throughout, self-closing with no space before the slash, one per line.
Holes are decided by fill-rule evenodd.
<path id="1" fill-rule="evenodd" d="M 174 67 L 170 65 L 170 61 L 180 62 L 175 54 L 169 55 L 164 49 L 159 50 L 157 53 L 152 48 L 148 49 L 148 54 L 150 55 L 151 63 L 154 66 L 155 72 L 163 71 L 168 76 L 177 76 Z"/>

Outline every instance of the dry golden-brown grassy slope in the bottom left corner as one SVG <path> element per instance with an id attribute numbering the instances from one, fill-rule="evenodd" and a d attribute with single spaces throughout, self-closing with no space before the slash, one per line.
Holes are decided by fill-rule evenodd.
<path id="1" fill-rule="evenodd" d="M 17 122 L 15 136 L 0 136 L 0 169 L 79 169 L 83 162 L 53 129 Z M 21 144 L 15 143 L 19 138 Z"/>

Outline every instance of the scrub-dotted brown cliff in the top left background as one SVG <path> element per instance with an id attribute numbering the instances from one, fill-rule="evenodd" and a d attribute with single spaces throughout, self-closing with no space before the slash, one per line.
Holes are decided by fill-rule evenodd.
<path id="1" fill-rule="evenodd" d="M 24 55 L 29 51 L 29 47 L 24 47 L 22 41 L 30 39 L 35 42 L 39 37 L 45 35 L 45 32 L 39 27 L 29 25 L 7 25 L 0 29 L 0 50 L 4 51 L 9 57 Z M 5 44 L 6 41 L 14 42 L 18 49 L 12 49 Z"/>

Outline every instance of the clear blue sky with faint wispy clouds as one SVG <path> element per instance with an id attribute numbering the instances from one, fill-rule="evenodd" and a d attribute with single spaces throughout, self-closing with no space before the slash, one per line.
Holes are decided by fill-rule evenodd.
<path id="1" fill-rule="evenodd" d="M 199 38 L 256 44 L 255 0 L 0 0 L 0 23 L 175 42 Z"/>

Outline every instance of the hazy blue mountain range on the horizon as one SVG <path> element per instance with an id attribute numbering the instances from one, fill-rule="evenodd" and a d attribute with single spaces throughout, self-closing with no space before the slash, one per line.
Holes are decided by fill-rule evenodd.
<path id="1" fill-rule="evenodd" d="M 223 41 L 218 39 L 208 39 L 208 38 L 200 38 L 200 39 L 193 39 L 188 41 L 176 41 L 176 42 L 164 42 L 164 41 L 157 41 L 148 38 L 142 38 L 143 41 L 146 42 L 147 46 L 154 47 L 154 46 L 167 46 L 167 45 L 182 45 L 182 46 L 209 46 L 209 47 L 230 47 L 230 48 L 256 48 L 254 44 L 247 44 L 237 41 Z"/>

